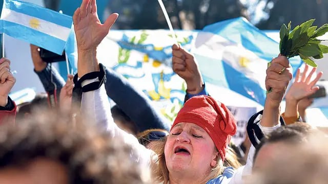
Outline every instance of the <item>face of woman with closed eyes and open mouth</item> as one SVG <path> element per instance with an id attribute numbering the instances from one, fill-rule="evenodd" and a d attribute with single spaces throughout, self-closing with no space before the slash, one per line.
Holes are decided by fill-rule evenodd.
<path id="1" fill-rule="evenodd" d="M 204 175 L 217 164 L 218 152 L 210 135 L 193 123 L 178 123 L 165 144 L 166 165 L 170 173 Z"/>

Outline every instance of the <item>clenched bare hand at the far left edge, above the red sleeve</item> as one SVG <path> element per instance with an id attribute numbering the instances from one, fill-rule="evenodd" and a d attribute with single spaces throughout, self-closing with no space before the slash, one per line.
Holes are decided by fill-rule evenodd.
<path id="1" fill-rule="evenodd" d="M 16 79 L 10 72 L 10 61 L 7 58 L 0 59 L 0 106 L 6 106 L 8 95 L 14 86 Z"/>

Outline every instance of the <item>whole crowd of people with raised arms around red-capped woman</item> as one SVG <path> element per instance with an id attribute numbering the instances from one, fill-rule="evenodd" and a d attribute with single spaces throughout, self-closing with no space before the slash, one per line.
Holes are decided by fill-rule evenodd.
<path id="1" fill-rule="evenodd" d="M 261 118 L 249 122 L 247 139 L 236 146 L 233 114 L 211 97 L 195 58 L 180 45 L 172 46 L 172 69 L 187 90 L 173 124 L 98 63 L 97 46 L 117 17 L 101 24 L 96 0 L 83 0 L 73 16 L 78 72 L 66 82 L 31 45 L 47 91 L 31 102 L 10 99 L 16 79 L 10 60 L 0 59 L 0 183 L 326 183 L 326 135 L 305 122 L 322 72 L 298 69 L 286 92 L 292 67 L 284 56 L 272 59 Z"/>

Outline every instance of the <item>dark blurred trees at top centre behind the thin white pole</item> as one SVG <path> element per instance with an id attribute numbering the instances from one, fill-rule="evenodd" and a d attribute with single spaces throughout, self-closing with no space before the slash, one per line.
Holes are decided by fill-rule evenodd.
<path id="1" fill-rule="evenodd" d="M 247 17 L 239 0 L 163 0 L 163 3 L 175 29 L 202 29 L 224 19 Z M 109 7 L 120 13 L 118 29 L 168 28 L 156 0 L 111 0 Z"/>

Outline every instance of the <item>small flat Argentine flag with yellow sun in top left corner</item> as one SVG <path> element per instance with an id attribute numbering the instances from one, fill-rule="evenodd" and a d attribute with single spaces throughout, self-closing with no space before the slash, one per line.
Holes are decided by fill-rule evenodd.
<path id="1" fill-rule="evenodd" d="M 4 0 L 1 31 L 61 55 L 72 27 L 72 17 L 31 3 Z"/>

